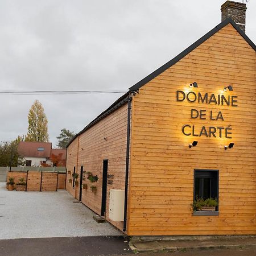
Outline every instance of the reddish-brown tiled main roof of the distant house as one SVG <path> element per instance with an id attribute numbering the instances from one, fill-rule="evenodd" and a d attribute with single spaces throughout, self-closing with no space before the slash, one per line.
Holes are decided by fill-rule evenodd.
<path id="1" fill-rule="evenodd" d="M 43 148 L 44 150 L 38 150 Z M 20 142 L 18 153 L 20 156 L 29 156 L 32 158 L 49 158 L 51 155 L 52 143 L 50 142 Z"/>

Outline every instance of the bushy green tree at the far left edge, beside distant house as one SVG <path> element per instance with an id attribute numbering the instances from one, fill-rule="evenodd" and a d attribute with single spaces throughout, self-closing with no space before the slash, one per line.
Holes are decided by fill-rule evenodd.
<path id="1" fill-rule="evenodd" d="M 19 156 L 18 145 L 20 137 L 12 142 L 0 143 L 0 166 L 23 166 L 26 160 Z"/>

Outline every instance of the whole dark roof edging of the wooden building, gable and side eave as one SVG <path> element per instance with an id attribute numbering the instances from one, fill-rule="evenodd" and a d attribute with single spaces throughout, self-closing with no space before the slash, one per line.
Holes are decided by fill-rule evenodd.
<path id="1" fill-rule="evenodd" d="M 245 32 L 241 30 L 241 28 L 234 22 L 233 19 L 228 18 L 225 19 L 223 22 L 218 24 L 216 27 L 214 27 L 212 30 L 210 30 L 207 34 L 202 36 L 199 40 L 197 40 L 195 43 L 193 43 L 191 46 L 189 46 L 187 49 L 185 49 L 183 52 L 181 52 L 179 55 L 174 57 L 174 59 L 168 61 L 166 64 L 164 64 L 162 67 L 156 69 L 156 71 L 152 72 L 150 75 L 146 76 L 141 81 L 137 82 L 137 84 L 131 86 L 129 88 L 130 92 L 125 93 L 123 96 L 121 96 L 117 101 L 115 101 L 108 109 L 106 109 L 104 112 L 102 112 L 98 117 L 96 117 L 92 122 L 89 123 L 88 126 L 86 126 L 83 130 L 81 130 L 78 134 L 76 134 L 71 142 L 68 143 L 67 147 L 76 139 L 80 134 L 84 133 L 84 131 L 88 130 L 90 127 L 92 127 L 95 123 L 100 121 L 102 118 L 106 117 L 106 115 L 112 113 L 115 109 L 119 108 L 119 106 L 125 104 L 127 99 L 129 98 L 129 93 L 135 92 L 139 90 L 143 85 L 147 84 L 147 82 L 154 79 L 156 76 L 160 75 L 160 73 L 163 73 L 166 71 L 166 69 L 170 68 L 172 65 L 177 63 L 177 61 L 183 59 L 189 52 L 193 51 L 193 49 L 200 46 L 200 44 L 204 43 L 207 39 L 209 39 L 212 35 L 214 35 L 216 32 L 221 30 L 221 28 L 224 28 L 228 24 L 232 24 L 234 28 L 239 32 L 239 34 L 242 36 L 243 39 L 246 40 L 246 42 L 256 51 L 255 44 L 248 38 L 247 35 L 245 35 Z"/>

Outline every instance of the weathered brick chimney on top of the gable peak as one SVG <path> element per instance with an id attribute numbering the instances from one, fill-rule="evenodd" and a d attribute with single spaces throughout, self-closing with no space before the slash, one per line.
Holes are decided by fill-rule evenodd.
<path id="1" fill-rule="evenodd" d="M 240 26 L 243 32 L 245 32 L 246 9 L 246 3 L 226 1 L 221 6 L 221 21 L 224 21 L 226 18 L 232 18 L 234 22 Z"/>

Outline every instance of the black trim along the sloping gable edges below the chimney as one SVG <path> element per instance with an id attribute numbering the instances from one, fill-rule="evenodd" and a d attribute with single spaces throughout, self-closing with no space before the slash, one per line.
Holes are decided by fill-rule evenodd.
<path id="1" fill-rule="evenodd" d="M 241 28 L 234 22 L 233 19 L 228 18 L 225 19 L 223 22 L 218 24 L 216 27 L 214 27 L 212 30 L 210 30 L 207 34 L 205 34 L 203 37 L 201 37 L 199 40 L 197 40 L 195 43 L 193 43 L 191 46 L 189 46 L 187 49 L 185 49 L 183 52 L 181 52 L 179 55 L 174 57 L 174 59 L 168 61 L 166 64 L 162 65 L 162 67 L 156 69 L 156 71 L 152 72 L 150 75 L 146 76 L 144 79 L 141 81 L 137 82 L 137 84 L 131 86 L 129 88 L 132 92 L 138 90 L 141 88 L 143 85 L 147 84 L 147 82 L 151 81 L 154 79 L 156 76 L 160 75 L 160 73 L 163 73 L 166 71 L 166 69 L 170 68 L 172 65 L 183 59 L 189 52 L 192 52 L 193 49 L 197 48 L 200 46 L 200 44 L 204 43 L 207 39 L 209 39 L 212 35 L 214 35 L 216 32 L 221 30 L 221 28 L 224 28 L 228 24 L 232 24 L 234 28 L 239 32 L 239 34 L 243 37 L 243 39 L 246 40 L 248 44 L 256 51 L 256 46 L 255 44 L 248 38 L 247 35 L 245 35 L 245 32 L 241 30 Z"/>

